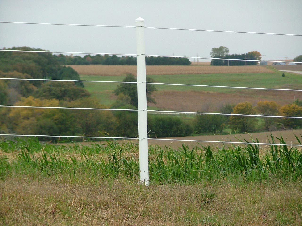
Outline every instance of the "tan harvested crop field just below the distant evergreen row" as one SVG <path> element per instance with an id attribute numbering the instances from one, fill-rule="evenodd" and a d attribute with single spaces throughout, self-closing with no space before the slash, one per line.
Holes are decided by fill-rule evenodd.
<path id="1" fill-rule="evenodd" d="M 136 65 L 69 65 L 79 74 L 120 76 L 132 73 L 136 75 Z M 233 74 L 233 73 L 272 73 L 262 66 L 210 66 L 210 65 L 147 65 L 147 75 L 161 74 Z"/>

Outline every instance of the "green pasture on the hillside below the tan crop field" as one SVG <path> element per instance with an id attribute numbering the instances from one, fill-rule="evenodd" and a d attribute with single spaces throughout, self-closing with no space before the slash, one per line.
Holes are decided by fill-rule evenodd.
<path id="1" fill-rule="evenodd" d="M 280 71 L 274 73 L 245 73 L 245 74 L 175 74 L 175 75 L 151 75 L 156 83 L 173 84 L 194 84 L 211 86 L 239 86 L 239 87 L 259 87 L 277 89 L 302 89 L 302 76 L 291 73 L 284 73 L 282 77 Z M 95 81 L 122 81 L 125 75 L 121 76 L 99 76 L 80 75 L 81 80 Z M 114 94 L 119 83 L 93 83 L 84 82 L 85 88 L 104 105 L 114 102 Z M 155 85 L 158 92 L 165 90 L 174 91 L 211 91 L 214 93 L 235 93 L 235 88 L 221 87 L 200 87 L 200 86 L 175 86 L 175 85 Z"/>

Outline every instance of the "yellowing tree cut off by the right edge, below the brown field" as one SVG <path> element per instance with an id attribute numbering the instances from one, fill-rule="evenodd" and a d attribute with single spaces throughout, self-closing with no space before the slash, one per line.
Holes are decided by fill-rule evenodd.
<path id="1" fill-rule="evenodd" d="M 301 117 L 302 107 L 296 104 L 284 105 L 283 107 L 280 108 L 280 113 L 282 116 Z M 281 121 L 285 127 L 290 127 L 293 129 L 302 126 L 302 120 L 299 118 L 282 118 Z"/>

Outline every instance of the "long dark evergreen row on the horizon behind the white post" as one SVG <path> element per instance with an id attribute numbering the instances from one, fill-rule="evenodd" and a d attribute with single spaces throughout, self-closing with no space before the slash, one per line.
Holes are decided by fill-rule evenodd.
<path id="1" fill-rule="evenodd" d="M 85 55 L 73 56 L 73 55 L 56 55 L 58 61 L 62 65 L 90 65 L 90 64 L 102 64 L 102 65 L 136 65 L 136 57 L 133 56 L 121 56 L 117 55 L 100 55 L 95 56 Z M 188 58 L 174 58 L 174 57 L 146 57 L 146 65 L 191 65 L 191 61 Z"/>

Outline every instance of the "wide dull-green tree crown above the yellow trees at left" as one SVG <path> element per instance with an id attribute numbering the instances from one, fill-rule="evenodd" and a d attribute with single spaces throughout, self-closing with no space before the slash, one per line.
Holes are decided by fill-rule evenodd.
<path id="1" fill-rule="evenodd" d="M 76 86 L 74 82 L 49 81 L 37 89 L 35 96 L 43 99 L 72 101 L 90 96 L 87 90 Z"/>

